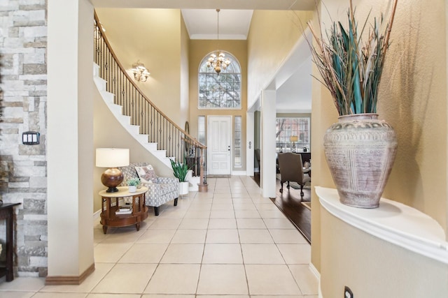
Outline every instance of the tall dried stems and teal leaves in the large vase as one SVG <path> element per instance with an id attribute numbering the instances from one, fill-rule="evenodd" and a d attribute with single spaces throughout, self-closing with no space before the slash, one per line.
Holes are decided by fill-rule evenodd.
<path id="1" fill-rule="evenodd" d="M 381 15 L 379 24 L 377 18 L 374 19 L 365 42 L 362 37 L 370 13 L 358 31 L 352 0 L 347 13 L 348 28 L 341 22 L 333 22 L 324 39 L 323 33 L 317 35 L 311 22 L 308 23 L 316 42 L 313 46 L 309 41 L 313 61 L 321 73 L 322 84 L 332 95 L 339 116 L 377 112 L 378 87 L 397 1 L 393 1 L 391 17 L 384 31 L 380 33 L 380 27 L 384 27 Z"/>

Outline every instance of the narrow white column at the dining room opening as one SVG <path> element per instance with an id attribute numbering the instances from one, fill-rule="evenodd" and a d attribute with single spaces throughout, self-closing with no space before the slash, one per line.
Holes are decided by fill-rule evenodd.
<path id="1" fill-rule="evenodd" d="M 263 198 L 275 198 L 275 105 L 276 92 L 261 93 L 261 193 Z"/>

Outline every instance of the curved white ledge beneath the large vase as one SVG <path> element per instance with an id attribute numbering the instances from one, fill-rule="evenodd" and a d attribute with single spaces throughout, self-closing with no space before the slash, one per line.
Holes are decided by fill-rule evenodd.
<path id="1" fill-rule="evenodd" d="M 376 209 L 349 207 L 333 188 L 316 186 L 319 202 L 330 214 L 391 244 L 448 264 L 448 242 L 430 216 L 405 204 L 381 198 Z"/>

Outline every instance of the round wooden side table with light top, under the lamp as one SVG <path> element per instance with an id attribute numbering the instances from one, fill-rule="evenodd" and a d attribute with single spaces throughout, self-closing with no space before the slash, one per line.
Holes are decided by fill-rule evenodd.
<path id="1" fill-rule="evenodd" d="M 135 225 L 137 231 L 140 230 L 140 223 L 148 217 L 148 207 L 145 204 L 145 193 L 148 188 L 141 186 L 136 192 L 130 193 L 127 186 L 118 187 L 116 193 L 106 193 L 106 190 L 100 191 L 99 195 L 102 197 L 101 204 L 101 224 L 103 225 L 103 232 L 106 234 L 108 227 L 125 227 L 127 225 Z M 116 214 L 120 208 L 120 198 L 132 198 L 131 214 Z M 115 204 L 112 206 L 111 201 L 115 199 Z M 137 201 L 137 202 L 136 202 Z"/>

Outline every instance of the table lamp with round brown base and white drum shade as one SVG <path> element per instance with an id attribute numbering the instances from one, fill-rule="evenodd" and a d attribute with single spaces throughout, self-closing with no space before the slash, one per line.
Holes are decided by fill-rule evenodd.
<path id="1" fill-rule="evenodd" d="M 97 149 L 97 167 L 109 167 L 101 175 L 101 181 L 107 187 L 107 193 L 116 193 L 117 186 L 123 182 L 123 173 L 117 167 L 129 165 L 129 149 Z"/>

